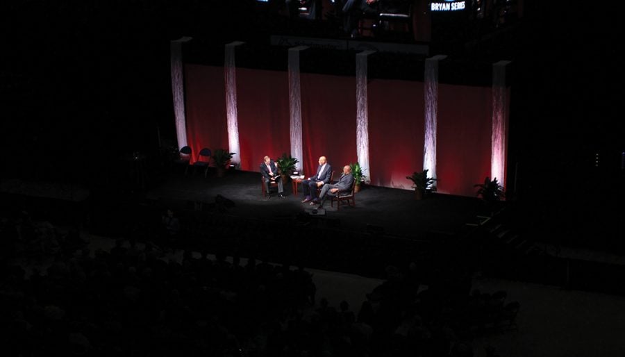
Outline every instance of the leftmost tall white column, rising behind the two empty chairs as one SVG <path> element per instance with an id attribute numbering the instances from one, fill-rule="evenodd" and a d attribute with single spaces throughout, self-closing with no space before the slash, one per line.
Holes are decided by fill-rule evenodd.
<path id="1" fill-rule="evenodd" d="M 191 38 L 183 37 L 169 42 L 169 63 L 172 72 L 172 97 L 174 100 L 174 120 L 176 122 L 176 140 L 178 140 L 178 150 L 187 145 L 182 44 L 184 42 L 188 42 L 189 40 L 191 40 Z"/>

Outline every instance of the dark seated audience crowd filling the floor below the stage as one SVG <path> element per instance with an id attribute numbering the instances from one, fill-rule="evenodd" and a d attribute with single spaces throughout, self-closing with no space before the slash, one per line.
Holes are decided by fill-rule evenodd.
<path id="1" fill-rule="evenodd" d="M 381 244 L 381 236 L 317 239 L 317 251 L 306 244 L 301 251 L 259 234 L 269 222 L 189 210 L 181 213 L 184 234 L 174 246 L 159 238 L 158 219 L 146 218 L 122 225 L 117 238 L 101 238 L 115 242 L 110 249 L 90 251 L 77 231 L 61 233 L 20 210 L 3 217 L 0 228 L 12 243 L 3 252 L 13 259 L 3 260 L 0 298 L 12 356 L 468 356 L 462 353 L 476 333 L 491 322 L 512 326 L 505 313 L 518 310 L 503 305 L 505 292 L 469 294 L 468 270 L 421 260 L 417 250 L 426 245 L 406 251 L 415 261 L 385 256 L 408 246 Z M 312 239 L 319 229 L 327 228 L 312 226 L 303 235 Z M 267 247 L 253 251 L 246 237 Z M 359 254 L 346 256 L 350 247 Z M 183 249 L 181 259 L 167 254 L 174 249 Z M 344 271 L 336 262 L 346 258 L 383 278 L 354 311 L 318 299 L 304 264 Z M 44 262 L 45 269 L 33 269 Z M 475 321 L 481 325 L 472 330 Z"/>

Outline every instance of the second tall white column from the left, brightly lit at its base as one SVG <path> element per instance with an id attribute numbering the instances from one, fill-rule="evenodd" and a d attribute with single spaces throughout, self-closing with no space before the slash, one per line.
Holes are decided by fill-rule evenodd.
<path id="1" fill-rule="evenodd" d="M 244 42 L 235 41 L 226 44 L 224 72 L 226 77 L 226 117 L 228 119 L 228 151 L 235 153 L 231 163 L 237 168 L 241 165 L 239 149 L 239 122 L 237 111 L 237 67 L 235 65 L 235 49 Z"/>

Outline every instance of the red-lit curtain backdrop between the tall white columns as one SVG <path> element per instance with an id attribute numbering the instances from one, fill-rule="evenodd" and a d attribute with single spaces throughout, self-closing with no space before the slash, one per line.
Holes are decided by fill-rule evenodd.
<path id="1" fill-rule="evenodd" d="M 367 96 L 365 175 L 372 185 L 412 189 L 406 176 L 422 171 L 424 159 L 424 84 L 376 79 Z M 228 149 L 224 68 L 185 65 L 185 97 L 194 153 Z M 237 98 L 241 169 L 258 172 L 263 156 L 290 152 L 288 73 L 238 68 Z M 440 84 L 438 99 L 437 188 L 475 196 L 474 184 L 490 176 L 492 90 Z M 356 162 L 356 78 L 302 73 L 301 117 L 304 174 L 322 155 L 335 175 Z"/>

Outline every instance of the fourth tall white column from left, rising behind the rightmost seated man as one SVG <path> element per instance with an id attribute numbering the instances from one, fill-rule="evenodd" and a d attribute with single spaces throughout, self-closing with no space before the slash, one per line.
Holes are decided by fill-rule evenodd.
<path id="1" fill-rule="evenodd" d="M 369 103 L 367 101 L 367 57 L 375 51 L 356 53 L 356 155 L 365 174 L 365 182 L 371 182 L 369 170 Z"/>

